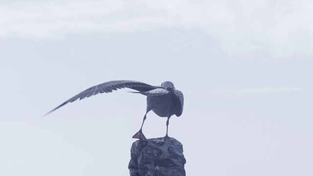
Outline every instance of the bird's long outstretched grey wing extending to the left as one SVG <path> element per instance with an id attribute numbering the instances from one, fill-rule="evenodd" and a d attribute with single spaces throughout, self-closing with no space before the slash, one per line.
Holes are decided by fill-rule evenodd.
<path id="1" fill-rule="evenodd" d="M 59 108 L 61 108 L 62 106 L 66 105 L 67 103 L 71 103 L 77 99 L 82 100 L 84 98 L 88 98 L 92 95 L 96 95 L 98 93 L 108 93 L 108 92 L 112 92 L 112 90 L 117 90 L 117 89 L 121 89 L 121 88 L 132 88 L 134 90 L 138 90 L 138 91 L 149 91 L 152 89 L 155 89 L 157 87 L 155 86 L 151 86 L 139 81 L 128 81 L 128 80 L 121 80 L 121 81 L 109 81 L 106 83 L 102 83 L 99 84 L 97 86 L 93 86 L 91 88 L 88 88 L 82 92 L 80 92 L 79 94 L 73 96 L 72 98 L 68 99 L 66 102 L 62 103 L 60 106 L 56 107 L 55 109 L 49 111 L 48 113 L 46 113 L 45 115 L 51 113 L 54 110 L 57 110 Z M 45 116 L 44 115 L 44 116 Z"/>

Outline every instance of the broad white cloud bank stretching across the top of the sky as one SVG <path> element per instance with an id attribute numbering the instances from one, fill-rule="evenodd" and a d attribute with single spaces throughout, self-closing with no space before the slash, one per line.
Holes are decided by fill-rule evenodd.
<path id="1" fill-rule="evenodd" d="M 197 29 L 234 59 L 305 59 L 313 56 L 312 6 L 308 0 L 11 0 L 0 2 L 0 36 Z"/>

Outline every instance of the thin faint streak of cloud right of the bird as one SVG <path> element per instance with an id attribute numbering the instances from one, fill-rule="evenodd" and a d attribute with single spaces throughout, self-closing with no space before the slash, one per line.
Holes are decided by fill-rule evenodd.
<path id="1" fill-rule="evenodd" d="M 279 92 L 298 92 L 301 88 L 247 88 L 247 89 L 229 89 L 221 90 L 221 93 L 279 93 Z"/>

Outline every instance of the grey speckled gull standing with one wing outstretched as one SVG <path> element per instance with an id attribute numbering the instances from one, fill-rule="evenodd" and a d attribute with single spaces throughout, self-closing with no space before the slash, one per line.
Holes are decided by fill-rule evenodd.
<path id="1" fill-rule="evenodd" d="M 183 93 L 178 89 L 175 89 L 174 84 L 170 81 L 164 81 L 161 86 L 151 86 L 143 82 L 131 80 L 117 80 L 105 82 L 78 93 L 77 95 L 73 96 L 66 102 L 56 107 L 55 109 L 47 112 L 44 116 L 48 115 L 54 110 L 63 107 L 68 103 L 76 101 L 77 99 L 82 100 L 84 98 L 88 98 L 99 93 L 109 93 L 112 92 L 112 90 L 117 90 L 121 88 L 131 88 L 137 91 L 129 91 L 130 93 L 140 93 L 147 96 L 146 113 L 143 117 L 140 130 L 134 134 L 133 138 L 139 140 L 146 139 L 145 135 L 142 132 L 142 127 L 147 118 L 147 113 L 151 110 L 155 112 L 156 115 L 158 115 L 159 117 L 167 117 L 166 135 L 164 136 L 164 138 L 170 138 L 168 136 L 169 120 L 174 114 L 179 117 L 182 114 L 184 105 Z"/>

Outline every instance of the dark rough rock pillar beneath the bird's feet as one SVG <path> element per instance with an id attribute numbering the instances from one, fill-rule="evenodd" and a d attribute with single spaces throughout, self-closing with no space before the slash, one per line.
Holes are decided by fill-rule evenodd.
<path id="1" fill-rule="evenodd" d="M 174 138 L 137 140 L 131 149 L 130 176 L 186 176 L 182 144 Z"/>

